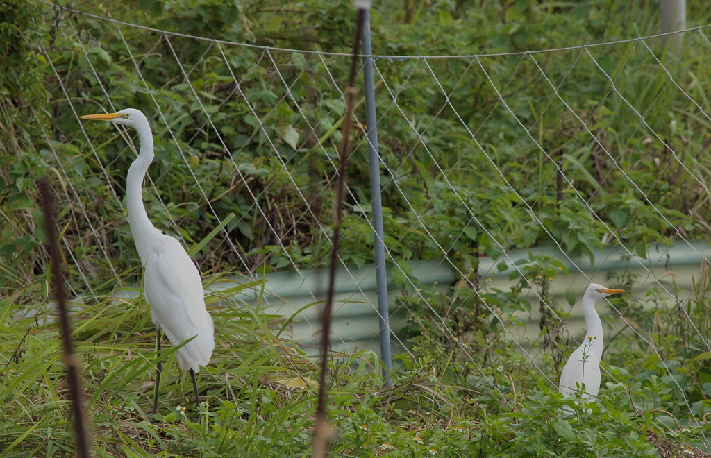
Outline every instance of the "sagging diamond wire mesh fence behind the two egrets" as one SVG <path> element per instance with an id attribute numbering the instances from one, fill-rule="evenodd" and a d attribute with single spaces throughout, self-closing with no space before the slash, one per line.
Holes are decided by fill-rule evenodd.
<path id="1" fill-rule="evenodd" d="M 134 133 L 78 119 L 137 107 L 156 137 L 144 196 L 151 219 L 191 246 L 234 213 L 196 256 L 202 270 L 266 276 L 273 312 L 314 304 L 299 319 L 304 344 L 315 341 L 348 56 L 59 10 L 55 33 L 75 41 L 43 40 L 55 94 L 43 154 L 65 192 L 73 294 L 139 281 L 127 222 L 116 217 Z M 630 291 L 604 306 L 607 349 L 617 355 L 603 360 L 606 380 L 661 367 L 680 412 L 707 411 L 705 372 L 697 368 L 691 379 L 701 386 L 692 387 L 678 361 L 711 354 L 708 36 L 705 27 L 685 31 L 680 55 L 652 36 L 373 56 L 391 338 L 402 361 L 419 357 L 410 337 L 437 334 L 445 358 L 469 368 L 464 380 L 503 394 L 513 363 L 487 348 L 506 342 L 523 356 L 515 364 L 555 387 L 584 337 L 574 304 L 594 280 Z M 378 342 L 363 102 L 334 310 L 332 341 L 343 351 Z M 670 354 L 668 330 L 682 327 L 683 351 Z M 625 367 L 625 352 L 646 363 Z"/>

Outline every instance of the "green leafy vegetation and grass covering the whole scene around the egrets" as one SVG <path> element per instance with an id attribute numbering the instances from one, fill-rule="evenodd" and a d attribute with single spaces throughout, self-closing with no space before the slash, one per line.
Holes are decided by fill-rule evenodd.
<path id="1" fill-rule="evenodd" d="M 592 258 L 620 243 L 646 256 L 653 243 L 709 237 L 707 29 L 685 36 L 678 60 L 659 39 L 528 54 L 652 35 L 658 2 L 382 3 L 372 13 L 376 54 L 486 57 L 375 62 L 385 243 L 399 269 L 397 300 L 410 310 L 412 354 L 398 357 L 392 390 L 380 388 L 368 351 L 333 363 L 334 456 L 709 453 L 696 426 L 711 411 L 707 273 L 683 306 L 658 292 L 640 299 L 653 312 L 631 304 L 626 317 L 639 331 L 606 348 L 600 399 L 560 418 L 569 401 L 555 382 L 571 349 L 561 307 L 540 306 L 535 364 L 495 315 L 538 307 L 525 299 L 532 288 L 550 302 L 565 269 L 533 256 L 507 291 L 489 288 L 479 269 L 481 256 L 503 249 L 560 245 Z M 82 125 L 77 114 L 137 107 L 149 116 L 147 210 L 195 249 L 205 281 L 322 267 L 348 57 L 291 49 L 350 52 L 351 1 L 58 4 L 282 50 L 32 0 L 0 5 L 0 452 L 73 453 L 36 205 L 35 182 L 49 175 L 97 456 L 309 456 L 314 361 L 290 345 L 289 320 L 226 297 L 209 298 L 220 334 L 199 380 L 208 405 L 176 410 L 190 387 L 168 358 L 163 417 L 147 421 L 154 327 L 135 291 L 118 294 L 141 278 L 122 217 L 133 133 Z M 706 1 L 688 9 L 690 21 L 711 17 Z M 361 122 L 363 109 L 358 99 Z M 362 266 L 373 234 L 367 149 L 362 133 L 354 139 L 341 253 Z M 226 231 L 212 234 L 220 222 Z M 408 261 L 442 256 L 459 269 L 456 284 L 412 288 Z M 611 283 L 632 280 L 621 272 Z M 242 288 L 260 285 L 233 293 Z"/>

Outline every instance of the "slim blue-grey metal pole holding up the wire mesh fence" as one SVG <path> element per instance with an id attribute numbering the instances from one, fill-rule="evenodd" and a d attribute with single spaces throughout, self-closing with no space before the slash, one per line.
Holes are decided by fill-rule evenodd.
<path id="1" fill-rule="evenodd" d="M 363 22 L 363 80 L 365 82 L 365 123 L 368 124 L 368 158 L 370 160 L 370 197 L 375 230 L 375 279 L 378 281 L 378 315 L 380 321 L 380 358 L 383 359 L 385 386 L 392 385 L 392 355 L 390 354 L 390 314 L 387 310 L 387 278 L 385 277 L 385 244 L 383 240 L 383 202 L 380 199 L 380 157 L 378 156 L 378 118 L 375 116 L 375 84 L 373 54 L 370 41 L 370 11 Z"/>

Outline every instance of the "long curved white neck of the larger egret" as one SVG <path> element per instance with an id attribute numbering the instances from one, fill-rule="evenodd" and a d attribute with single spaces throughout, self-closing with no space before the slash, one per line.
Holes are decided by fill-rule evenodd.
<path id="1" fill-rule="evenodd" d="M 139 141 L 141 141 L 141 151 L 138 158 L 129 167 L 129 173 L 126 176 L 126 197 L 131 234 L 133 234 L 136 242 L 136 249 L 141 258 L 141 263 L 145 263 L 150 246 L 149 241 L 161 234 L 161 231 L 151 224 L 151 220 L 148 219 L 148 214 L 146 214 L 146 207 L 143 205 L 143 179 L 146 176 L 148 166 L 153 162 L 154 156 L 153 134 L 151 133 L 151 127 L 147 123 L 139 123 L 134 127 L 138 132 Z"/>

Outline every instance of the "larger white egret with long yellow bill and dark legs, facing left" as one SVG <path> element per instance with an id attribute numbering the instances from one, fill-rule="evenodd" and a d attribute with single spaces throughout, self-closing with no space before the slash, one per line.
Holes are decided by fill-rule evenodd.
<path id="1" fill-rule="evenodd" d="M 90 114 L 82 119 L 109 121 L 132 126 L 138 132 L 141 151 L 129 167 L 126 176 L 129 226 L 141 264 L 144 267 L 144 294 L 151 305 L 151 316 L 158 329 L 157 348 L 161 350 L 161 330 L 173 345 L 190 342 L 178 349 L 181 369 L 190 371 L 198 408 L 198 383 L 195 378 L 200 366 L 210 362 L 215 349 L 213 319 L 205 310 L 203 283 L 195 264 L 183 246 L 151 224 L 143 205 L 142 185 L 146 170 L 153 161 L 153 135 L 148 119 L 141 111 L 127 108 L 117 113 Z M 158 362 L 154 415 L 158 412 L 158 392 L 163 366 Z"/>

